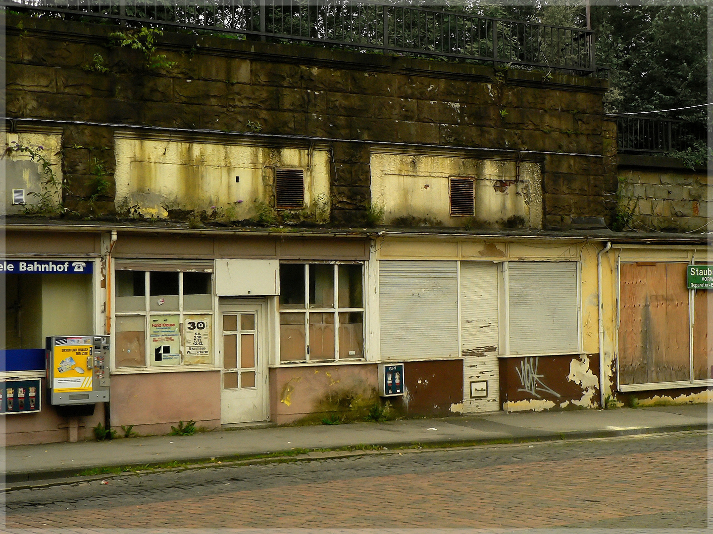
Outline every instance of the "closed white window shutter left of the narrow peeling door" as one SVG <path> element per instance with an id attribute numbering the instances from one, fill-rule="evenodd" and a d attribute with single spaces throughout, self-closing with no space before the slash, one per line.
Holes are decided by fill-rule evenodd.
<path id="1" fill-rule="evenodd" d="M 458 356 L 455 261 L 380 261 L 381 359 Z"/>

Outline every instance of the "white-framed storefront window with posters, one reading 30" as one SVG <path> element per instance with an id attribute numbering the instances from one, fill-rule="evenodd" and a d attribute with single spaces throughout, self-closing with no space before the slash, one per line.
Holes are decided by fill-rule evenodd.
<path id="1" fill-rule="evenodd" d="M 213 362 L 212 274 L 116 271 L 116 367 Z"/>

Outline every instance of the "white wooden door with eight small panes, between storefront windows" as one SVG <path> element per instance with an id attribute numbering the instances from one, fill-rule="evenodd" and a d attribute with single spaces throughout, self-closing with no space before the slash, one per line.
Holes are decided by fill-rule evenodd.
<path id="1" fill-rule="evenodd" d="M 220 419 L 222 424 L 266 421 L 265 313 L 262 303 L 220 303 Z"/>

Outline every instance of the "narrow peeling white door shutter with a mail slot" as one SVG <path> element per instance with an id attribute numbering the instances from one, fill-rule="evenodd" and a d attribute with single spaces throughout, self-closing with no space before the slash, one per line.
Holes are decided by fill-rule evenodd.
<path id="1" fill-rule="evenodd" d="M 496 411 L 498 381 L 498 268 L 461 262 L 461 353 L 463 413 Z M 488 396 L 471 398 L 471 382 L 488 382 Z"/>

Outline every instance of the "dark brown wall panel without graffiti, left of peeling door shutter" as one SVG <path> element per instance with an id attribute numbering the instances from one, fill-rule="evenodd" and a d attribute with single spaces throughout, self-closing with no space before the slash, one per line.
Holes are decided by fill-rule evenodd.
<path id="1" fill-rule="evenodd" d="M 463 402 L 463 360 L 404 362 L 404 382 L 406 397 L 390 400 L 407 415 L 453 415 Z"/>

